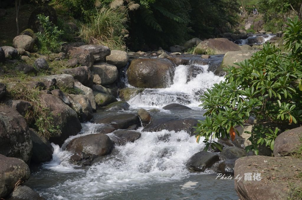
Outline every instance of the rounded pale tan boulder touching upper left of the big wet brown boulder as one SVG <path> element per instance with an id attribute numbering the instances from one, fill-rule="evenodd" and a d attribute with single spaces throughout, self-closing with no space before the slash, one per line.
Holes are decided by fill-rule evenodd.
<path id="1" fill-rule="evenodd" d="M 127 65 L 129 56 L 126 51 L 112 50 L 111 54 L 106 57 L 108 64 L 114 65 L 117 69 L 121 69 Z"/>

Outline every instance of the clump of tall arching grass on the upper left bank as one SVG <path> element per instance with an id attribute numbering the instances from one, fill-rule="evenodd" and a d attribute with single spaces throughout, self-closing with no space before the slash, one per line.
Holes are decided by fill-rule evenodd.
<path id="1" fill-rule="evenodd" d="M 101 44 L 110 49 L 124 50 L 128 14 L 125 7 L 96 9 L 89 24 L 80 29 L 80 37 L 89 44 Z"/>

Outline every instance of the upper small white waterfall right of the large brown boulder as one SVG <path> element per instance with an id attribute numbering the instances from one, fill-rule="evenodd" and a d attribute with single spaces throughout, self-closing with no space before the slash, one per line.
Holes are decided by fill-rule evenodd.
<path id="1" fill-rule="evenodd" d="M 145 89 L 128 103 L 132 107 L 143 108 L 162 108 L 171 103 L 198 108 L 198 96 L 221 80 L 223 77 L 208 71 L 208 65 L 179 65 L 175 69 L 173 84 L 169 88 Z"/>

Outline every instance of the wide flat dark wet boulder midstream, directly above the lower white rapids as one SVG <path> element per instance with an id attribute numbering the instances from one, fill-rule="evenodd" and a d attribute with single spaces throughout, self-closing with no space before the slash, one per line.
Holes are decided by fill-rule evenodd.
<path id="1" fill-rule="evenodd" d="M 150 124 L 148 124 L 143 131 L 148 132 L 159 132 L 162 130 L 168 131 L 185 131 L 190 136 L 195 135 L 193 128 L 198 123 L 197 118 L 193 117 L 186 117 L 186 118 L 179 118 L 179 119 L 171 119 L 171 118 L 164 118 L 164 119 L 155 119 Z"/>

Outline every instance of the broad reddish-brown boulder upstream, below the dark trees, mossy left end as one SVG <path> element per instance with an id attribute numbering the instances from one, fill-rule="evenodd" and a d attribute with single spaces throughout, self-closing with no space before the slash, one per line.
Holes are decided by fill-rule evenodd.
<path id="1" fill-rule="evenodd" d="M 239 51 L 240 47 L 226 38 L 204 40 L 195 49 L 196 54 L 225 54 L 228 51 Z"/>

